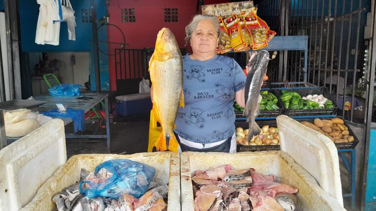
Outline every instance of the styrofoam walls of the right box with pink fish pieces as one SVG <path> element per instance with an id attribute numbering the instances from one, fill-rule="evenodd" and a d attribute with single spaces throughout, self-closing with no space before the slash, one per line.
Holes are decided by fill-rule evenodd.
<path id="1" fill-rule="evenodd" d="M 285 152 L 254 153 L 192 153 L 180 154 L 182 211 L 194 211 L 191 173 L 206 171 L 218 165 L 230 164 L 235 169 L 254 168 L 263 174 L 272 174 L 276 179 L 297 192 L 299 210 L 345 211 L 336 199 L 324 192 L 314 178 Z"/>

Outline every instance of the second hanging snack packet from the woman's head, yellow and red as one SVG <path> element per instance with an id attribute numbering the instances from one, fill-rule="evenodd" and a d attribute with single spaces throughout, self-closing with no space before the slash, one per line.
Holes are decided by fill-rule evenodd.
<path id="1" fill-rule="evenodd" d="M 227 31 L 229 32 L 231 47 L 235 52 L 240 51 L 244 47 L 247 47 L 247 43 L 244 41 L 243 33 L 239 25 L 239 19 L 234 14 L 225 19 Z"/>

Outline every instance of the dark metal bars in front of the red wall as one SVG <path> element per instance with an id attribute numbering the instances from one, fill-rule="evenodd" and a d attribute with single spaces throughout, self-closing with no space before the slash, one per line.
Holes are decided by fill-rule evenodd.
<path id="1" fill-rule="evenodd" d="M 116 79 L 142 78 L 146 75 L 142 49 L 115 49 Z"/>

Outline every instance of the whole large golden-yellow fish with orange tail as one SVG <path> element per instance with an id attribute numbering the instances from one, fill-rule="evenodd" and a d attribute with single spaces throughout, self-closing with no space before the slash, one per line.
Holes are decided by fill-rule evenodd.
<path id="1" fill-rule="evenodd" d="M 157 35 L 149 72 L 153 84 L 153 112 L 162 126 L 155 147 L 158 151 L 178 152 L 173 129 L 179 106 L 184 107 L 183 62 L 175 36 L 168 28 L 161 29 Z"/>

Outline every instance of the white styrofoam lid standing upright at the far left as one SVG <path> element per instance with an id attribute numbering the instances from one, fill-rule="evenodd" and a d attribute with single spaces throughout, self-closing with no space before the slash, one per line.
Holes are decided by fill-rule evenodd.
<path id="1" fill-rule="evenodd" d="M 65 162 L 64 123 L 60 119 L 0 150 L 0 210 L 20 210 Z"/>

